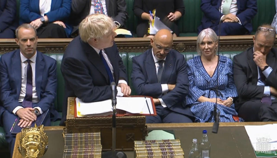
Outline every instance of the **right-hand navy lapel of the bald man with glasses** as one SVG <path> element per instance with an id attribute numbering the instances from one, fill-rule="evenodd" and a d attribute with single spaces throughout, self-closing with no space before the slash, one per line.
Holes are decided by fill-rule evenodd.
<path id="1" fill-rule="evenodd" d="M 166 55 L 166 60 L 164 63 L 164 71 L 162 73 L 162 83 L 168 83 L 169 78 L 171 76 L 172 70 L 173 70 L 173 65 L 175 62 L 175 58 L 173 57 L 173 55 L 171 54 L 171 52 L 169 52 Z"/>

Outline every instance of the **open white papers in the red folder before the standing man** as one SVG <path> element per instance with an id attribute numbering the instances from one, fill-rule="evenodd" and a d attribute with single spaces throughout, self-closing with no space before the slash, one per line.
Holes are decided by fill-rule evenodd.
<path id="1" fill-rule="evenodd" d="M 154 114 L 151 98 L 149 97 L 119 97 L 117 96 L 116 109 L 131 114 Z M 113 114 L 112 100 L 84 103 L 76 98 L 77 117 L 107 116 Z"/>

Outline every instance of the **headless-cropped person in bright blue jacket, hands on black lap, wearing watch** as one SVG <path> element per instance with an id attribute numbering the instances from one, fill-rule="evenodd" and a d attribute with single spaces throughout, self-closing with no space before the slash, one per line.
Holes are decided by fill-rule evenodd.
<path id="1" fill-rule="evenodd" d="M 71 0 L 20 0 L 19 24 L 29 23 L 38 38 L 68 38 Z"/>

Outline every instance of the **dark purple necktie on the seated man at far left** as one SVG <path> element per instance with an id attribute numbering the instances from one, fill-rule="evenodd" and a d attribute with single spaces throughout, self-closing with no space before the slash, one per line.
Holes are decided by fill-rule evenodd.
<path id="1" fill-rule="evenodd" d="M 32 106 L 32 97 L 33 97 L 33 73 L 32 73 L 32 67 L 30 64 L 31 60 L 27 60 L 28 66 L 27 66 L 27 83 L 26 83 L 26 95 L 22 102 L 23 107 L 33 107 Z"/>

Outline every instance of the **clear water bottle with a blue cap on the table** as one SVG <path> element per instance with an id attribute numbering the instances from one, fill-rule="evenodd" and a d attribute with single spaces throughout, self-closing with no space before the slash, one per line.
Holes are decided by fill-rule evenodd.
<path id="1" fill-rule="evenodd" d="M 207 131 L 203 130 L 202 140 L 199 144 L 201 158 L 211 157 L 211 143 L 208 141 Z"/>

